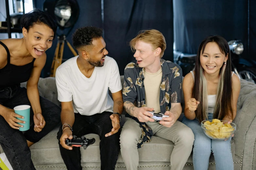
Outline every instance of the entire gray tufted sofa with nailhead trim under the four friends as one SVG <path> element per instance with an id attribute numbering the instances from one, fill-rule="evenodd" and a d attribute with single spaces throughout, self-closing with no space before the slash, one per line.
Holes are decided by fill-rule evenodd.
<path id="1" fill-rule="evenodd" d="M 123 76 L 121 76 L 121 81 L 123 84 Z M 22 83 L 22 86 L 25 87 L 26 83 Z M 60 106 L 57 97 L 55 78 L 40 78 L 39 91 L 41 96 Z M 182 99 L 182 107 L 184 110 L 184 98 Z M 235 170 L 256 169 L 255 116 L 256 85 L 241 80 L 241 92 L 237 103 L 237 116 L 233 121 L 237 125 L 237 130 L 235 136 L 231 140 Z M 124 123 L 124 121 L 122 121 L 122 123 Z M 32 161 L 37 170 L 42 170 L 44 168 L 51 170 L 66 168 L 60 156 L 58 140 L 56 138 L 59 127 L 60 126 L 56 127 L 48 135 L 43 137 L 42 140 L 30 147 Z M 81 162 L 83 169 L 100 169 L 99 136 L 89 134 L 85 135 L 85 137 L 94 137 L 96 142 L 86 150 L 81 148 Z M 140 162 L 138 169 L 170 169 L 170 155 L 173 147 L 174 143 L 171 141 L 153 136 L 150 143 L 145 143 L 144 146 L 139 149 Z M 1 147 L 0 152 L 3 152 Z M 126 169 L 121 153 L 119 153 L 116 169 Z M 193 169 L 192 153 L 183 169 Z M 210 157 L 209 169 L 215 169 L 213 155 Z"/>

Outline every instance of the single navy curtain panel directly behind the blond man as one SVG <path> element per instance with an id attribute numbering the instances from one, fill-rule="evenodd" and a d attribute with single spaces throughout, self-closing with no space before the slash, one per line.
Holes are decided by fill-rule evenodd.
<path id="1" fill-rule="evenodd" d="M 135 60 L 128 42 L 140 30 L 159 30 L 167 44 L 163 59 L 173 61 L 172 0 L 106 0 L 104 19 L 108 55 L 116 60 L 120 75 Z"/>

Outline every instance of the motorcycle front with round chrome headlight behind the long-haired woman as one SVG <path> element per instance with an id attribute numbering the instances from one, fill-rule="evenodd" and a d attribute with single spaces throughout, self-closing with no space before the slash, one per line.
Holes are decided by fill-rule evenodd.
<path id="1" fill-rule="evenodd" d="M 230 48 L 232 70 L 242 79 L 256 83 L 256 61 L 242 58 L 244 51 L 243 43 L 240 40 L 228 42 Z"/>

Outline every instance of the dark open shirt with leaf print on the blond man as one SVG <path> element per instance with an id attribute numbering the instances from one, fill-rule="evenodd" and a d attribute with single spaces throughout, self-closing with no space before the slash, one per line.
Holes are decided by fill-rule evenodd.
<path id="1" fill-rule="evenodd" d="M 160 90 L 160 110 L 161 113 L 169 111 L 171 103 L 181 102 L 181 81 L 182 70 L 178 64 L 165 61 L 161 59 L 162 67 L 162 80 Z M 136 61 L 127 64 L 124 74 L 124 89 L 123 100 L 129 101 L 137 107 L 145 107 L 145 87 L 144 87 L 144 68 L 139 67 Z M 152 82 L 154 83 L 154 82 Z M 140 122 L 137 118 L 126 114 L 129 117 L 140 124 L 142 129 L 142 136 L 138 142 L 137 147 L 141 148 L 143 142 L 150 142 L 153 135 L 152 129 L 146 124 L 146 122 Z"/>

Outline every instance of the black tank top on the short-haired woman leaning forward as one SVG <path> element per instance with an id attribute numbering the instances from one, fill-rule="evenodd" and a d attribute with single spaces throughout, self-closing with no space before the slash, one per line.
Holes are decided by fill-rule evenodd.
<path id="1" fill-rule="evenodd" d="M 3 42 L 0 41 L 0 44 L 5 48 L 7 52 L 7 64 L 4 68 L 0 69 L 0 88 L 10 87 L 12 85 L 26 82 L 31 75 L 35 58 L 31 63 L 21 66 L 10 64 L 9 49 Z"/>

